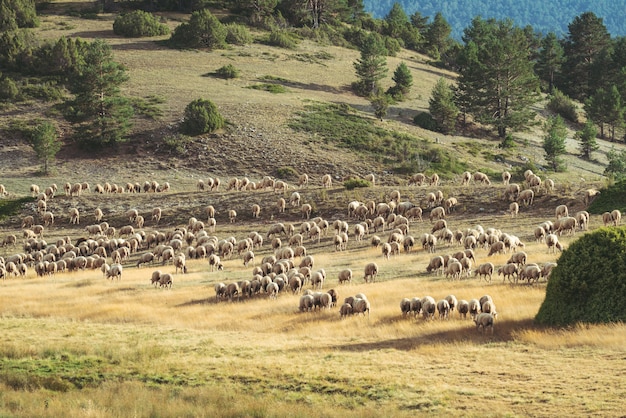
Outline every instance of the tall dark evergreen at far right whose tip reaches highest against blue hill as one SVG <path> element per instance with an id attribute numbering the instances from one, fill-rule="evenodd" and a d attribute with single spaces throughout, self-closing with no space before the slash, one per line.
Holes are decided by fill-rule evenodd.
<path id="1" fill-rule="evenodd" d="M 593 12 L 585 12 L 568 25 L 564 42 L 565 63 L 561 90 L 568 96 L 584 101 L 601 86 L 591 83 L 594 61 L 609 45 L 610 35 L 602 18 Z"/>

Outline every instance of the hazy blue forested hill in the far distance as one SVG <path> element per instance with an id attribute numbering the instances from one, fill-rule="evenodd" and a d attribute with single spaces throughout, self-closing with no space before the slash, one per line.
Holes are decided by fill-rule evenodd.
<path id="1" fill-rule="evenodd" d="M 452 37 L 461 39 L 463 29 L 472 19 L 511 18 L 516 25 L 531 25 L 541 33 L 555 32 L 562 37 L 567 25 L 584 12 L 594 12 L 604 19 L 612 36 L 626 35 L 626 2 L 623 0 L 363 0 L 365 10 L 376 18 L 384 18 L 394 3 L 408 15 L 420 12 L 431 19 L 441 12 L 452 26 Z"/>

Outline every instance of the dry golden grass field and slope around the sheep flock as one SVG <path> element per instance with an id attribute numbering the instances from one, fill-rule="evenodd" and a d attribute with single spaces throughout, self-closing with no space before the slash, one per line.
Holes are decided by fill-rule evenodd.
<path id="1" fill-rule="evenodd" d="M 69 2 L 72 4 L 74 2 Z M 80 2 L 76 2 L 80 3 Z M 52 5 L 54 6 L 54 2 Z M 67 7 L 67 4 L 65 5 Z M 312 216 L 329 222 L 347 220 L 350 241 L 346 251 L 335 251 L 333 232 L 318 244 L 305 239 L 315 259 L 314 270 L 324 268 L 324 289 L 334 288 L 339 301 L 364 293 L 371 302 L 369 316 L 341 319 L 338 307 L 320 312 L 298 310 L 299 295 L 282 292 L 276 300 L 265 295 L 241 301 L 220 301 L 214 285 L 250 279 L 253 266 L 244 267 L 241 257 L 223 260 L 224 270 L 209 270 L 206 260 L 188 260 L 187 274 L 174 274 L 172 289 L 150 284 L 151 273 L 161 269 L 174 273 L 171 264 L 136 267 L 142 249 L 124 263 L 120 281 L 103 278 L 100 271 L 59 273 L 37 277 L 31 268 L 26 277 L 0 282 L 0 416 L 8 417 L 403 417 L 403 416 L 621 416 L 626 407 L 626 328 L 623 324 L 577 325 L 566 329 L 541 328 L 533 318 L 541 305 L 546 283 L 514 285 L 494 276 L 491 283 L 476 277 L 451 281 L 426 273 L 432 254 L 415 248 L 383 259 L 380 249 L 353 238 L 354 219 L 346 209 L 352 200 L 388 201 L 398 188 L 401 200 L 425 204 L 433 187 L 408 187 L 405 179 L 383 173 L 379 162 L 336 148 L 312 135 L 297 133 L 287 121 L 310 101 L 346 103 L 368 112 L 369 103 L 354 96 L 352 62 L 358 52 L 302 42 L 297 51 L 262 44 L 227 51 L 178 51 L 152 39 L 127 40 L 113 35 L 113 16 L 85 20 L 51 14 L 42 18 L 41 36 L 104 38 L 115 56 L 129 69 L 125 93 L 137 97 L 159 95 L 166 99 L 164 117 L 154 123 L 155 135 L 168 131 L 180 119 L 184 106 L 196 98 L 215 101 L 229 120 L 224 133 L 201 139 L 201 152 L 165 156 L 149 142 L 133 143 L 111 155 L 84 155 L 64 149 L 50 177 L 36 177 L 39 169 L 33 152 L 10 138 L 1 138 L 0 183 L 9 198 L 29 195 L 32 183 L 41 187 L 66 181 L 125 184 L 168 181 L 172 190 L 161 194 L 94 194 L 57 196 L 49 210 L 57 216 L 46 228 L 45 239 L 54 243 L 70 236 L 85 237 L 93 211 L 100 207 L 104 220 L 119 228 L 128 223 L 125 211 L 138 209 L 147 222 L 144 230 L 172 231 L 184 227 L 190 217 L 206 220 L 204 207 L 218 210 L 214 234 L 238 241 L 251 231 L 265 237 L 274 222 L 300 226 L 298 208 L 284 214 L 275 209 L 279 195 L 273 191 L 199 192 L 198 178 L 219 176 L 223 184 L 231 177 L 249 176 L 258 181 L 277 165 L 308 172 L 313 184 L 300 189 L 302 201 L 313 206 Z M 175 27 L 176 21 L 169 23 Z M 323 50 L 332 57 L 304 63 L 302 57 Z M 381 124 L 420 138 L 440 140 L 443 147 L 466 159 L 471 167 L 503 169 L 468 152 L 467 143 L 495 149 L 493 139 L 447 137 L 416 128 L 413 115 L 427 107 L 430 89 L 440 76 L 423 57 L 403 52 L 389 58 L 393 69 L 407 61 L 414 72 L 414 97 L 391 108 Z M 243 76 L 234 81 L 203 77 L 222 65 L 233 63 Z M 289 80 L 288 93 L 272 95 L 245 88 L 271 75 Z M 41 109 L 39 109 L 41 110 Z M 2 123 L 11 117 L 32 117 L 26 108 L 7 108 Z M 144 122 L 147 123 L 147 122 Z M 527 134 L 519 154 L 539 160 L 540 138 Z M 202 142 L 204 141 L 204 142 Z M 465 145 L 464 145 L 465 144 Z M 495 145 L 494 145 L 495 144 Z M 447 217 L 455 230 L 482 225 L 515 234 L 526 243 L 529 262 L 542 264 L 558 259 L 543 243 L 534 240 L 533 228 L 554 219 L 554 208 L 566 204 L 571 213 L 584 209 L 582 190 L 601 186 L 601 162 L 586 163 L 575 157 L 570 143 L 571 170 L 554 178 L 556 190 L 538 193 L 535 204 L 523 207 L 516 218 L 506 214 L 504 186 L 461 187 L 455 179 L 439 189 L 455 196 L 459 205 Z M 608 149 L 603 144 L 603 150 Z M 127 154 L 127 155 L 125 155 Z M 346 168 L 349 167 L 349 168 Z M 330 172 L 364 175 L 375 172 L 380 186 L 346 190 L 319 186 L 321 174 Z M 584 178 L 583 179 L 581 179 Z M 291 187 L 296 187 L 290 183 Z M 289 193 L 292 190 L 289 190 Z M 288 197 L 288 195 L 286 196 Z M 252 219 L 252 204 L 262 207 Z M 163 219 L 150 221 L 159 206 Z M 68 210 L 81 211 L 81 223 L 68 223 Z M 239 213 L 229 224 L 227 211 Z M 34 203 L 18 215 L 0 221 L 0 239 L 17 234 L 18 245 L 0 247 L 0 256 L 22 251 L 21 218 L 33 214 Z M 432 224 L 410 225 L 410 233 L 430 232 Z M 592 216 L 590 229 L 602 225 Z M 584 231 L 561 238 L 564 246 Z M 386 239 L 388 232 L 379 233 Z M 460 247 L 440 245 L 435 254 L 449 254 Z M 272 250 L 266 243 L 255 250 L 254 266 Z M 506 263 L 510 254 L 487 256 L 477 249 L 477 263 Z M 375 283 L 364 283 L 365 264 L 375 261 L 380 274 Z M 299 259 L 296 259 L 296 263 Z M 351 284 L 339 285 L 339 271 L 351 268 Z M 584 268 L 584 266 L 581 266 Z M 310 288 L 310 285 L 307 286 Z M 489 294 L 498 310 L 492 333 L 477 332 L 470 319 L 454 312 L 448 320 L 405 318 L 402 298 L 431 295 L 436 300 L 449 294 L 458 299 Z"/>

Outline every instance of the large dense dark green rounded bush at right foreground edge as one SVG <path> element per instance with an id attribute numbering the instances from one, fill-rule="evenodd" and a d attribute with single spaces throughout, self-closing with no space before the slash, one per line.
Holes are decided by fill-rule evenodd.
<path id="1" fill-rule="evenodd" d="M 563 251 L 535 318 L 545 325 L 626 321 L 626 228 L 600 228 Z"/>

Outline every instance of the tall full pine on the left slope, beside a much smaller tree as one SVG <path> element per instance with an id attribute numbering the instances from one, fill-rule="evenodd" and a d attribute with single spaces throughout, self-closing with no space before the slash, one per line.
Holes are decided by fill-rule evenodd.
<path id="1" fill-rule="evenodd" d="M 77 123 L 79 141 L 104 145 L 123 139 L 130 129 L 133 110 L 120 94 L 128 80 L 126 69 L 113 61 L 111 46 L 96 40 L 86 46 L 84 63 L 70 80 L 75 94 L 70 118 Z"/>

